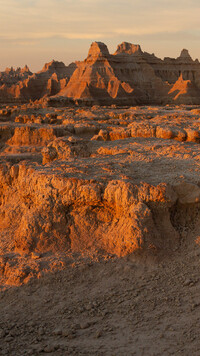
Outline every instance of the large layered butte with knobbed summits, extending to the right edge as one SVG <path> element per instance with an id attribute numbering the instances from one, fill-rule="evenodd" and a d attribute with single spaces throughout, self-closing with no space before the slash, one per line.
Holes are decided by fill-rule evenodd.
<path id="1" fill-rule="evenodd" d="M 123 42 L 110 55 L 95 42 L 59 95 L 100 104 L 199 103 L 200 64 L 185 49 L 161 60 L 139 45 Z"/>

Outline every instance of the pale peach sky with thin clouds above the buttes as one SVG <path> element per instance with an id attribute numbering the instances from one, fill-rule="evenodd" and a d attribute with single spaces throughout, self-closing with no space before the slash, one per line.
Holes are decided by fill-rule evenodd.
<path id="1" fill-rule="evenodd" d="M 140 44 L 157 57 L 200 59 L 199 0 L 0 0 L 0 71 L 87 57 L 94 41 L 114 53 Z"/>

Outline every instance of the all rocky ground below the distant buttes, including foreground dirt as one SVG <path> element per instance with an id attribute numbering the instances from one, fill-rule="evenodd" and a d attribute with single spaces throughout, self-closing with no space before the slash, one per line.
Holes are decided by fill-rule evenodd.
<path id="1" fill-rule="evenodd" d="M 199 355 L 200 107 L 2 104 L 0 144 L 0 355 Z"/>

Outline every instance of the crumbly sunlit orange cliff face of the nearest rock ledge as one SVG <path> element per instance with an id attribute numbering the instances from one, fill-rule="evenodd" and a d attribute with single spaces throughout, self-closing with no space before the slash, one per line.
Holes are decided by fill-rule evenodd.
<path id="1" fill-rule="evenodd" d="M 15 251 L 90 249 L 125 255 L 176 242 L 168 210 L 176 197 L 165 184 L 138 186 L 116 180 L 103 184 L 23 164 L 3 166 L 1 228 L 12 236 Z"/>

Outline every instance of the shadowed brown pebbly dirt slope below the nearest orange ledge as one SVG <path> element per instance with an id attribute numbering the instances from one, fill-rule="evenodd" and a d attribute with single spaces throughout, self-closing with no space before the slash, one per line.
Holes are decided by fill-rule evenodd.
<path id="1" fill-rule="evenodd" d="M 2 292 L 0 354 L 199 355 L 199 258 L 187 236 L 171 255 L 69 259 Z"/>

